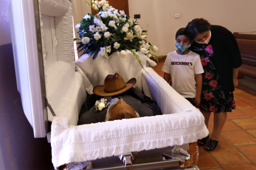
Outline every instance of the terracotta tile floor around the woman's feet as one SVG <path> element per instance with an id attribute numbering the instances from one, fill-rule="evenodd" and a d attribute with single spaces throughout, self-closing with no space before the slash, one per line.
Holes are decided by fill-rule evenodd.
<path id="1" fill-rule="evenodd" d="M 163 77 L 163 63 L 153 69 Z M 228 113 L 221 139 L 214 151 L 199 147 L 198 168 L 202 170 L 256 170 L 256 93 L 243 87 L 234 91 L 237 108 Z M 213 129 L 213 115 L 209 131 Z"/>

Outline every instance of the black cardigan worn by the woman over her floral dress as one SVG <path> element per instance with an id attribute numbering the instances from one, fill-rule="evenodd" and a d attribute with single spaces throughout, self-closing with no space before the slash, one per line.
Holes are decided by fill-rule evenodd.
<path id="1" fill-rule="evenodd" d="M 232 32 L 222 26 L 211 25 L 210 30 L 212 33 L 210 44 L 215 57 L 214 65 L 219 71 L 222 89 L 226 93 L 234 91 L 233 68 L 242 65 L 236 39 Z M 193 49 L 196 43 L 195 41 L 192 43 L 190 50 Z M 194 52 L 196 53 L 196 51 Z"/>

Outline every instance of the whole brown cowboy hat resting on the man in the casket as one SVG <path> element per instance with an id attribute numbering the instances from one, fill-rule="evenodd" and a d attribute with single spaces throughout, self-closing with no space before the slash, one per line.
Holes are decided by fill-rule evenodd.
<path id="1" fill-rule="evenodd" d="M 115 73 L 114 75 L 108 74 L 104 80 L 104 85 L 95 86 L 92 91 L 98 96 L 115 96 L 129 90 L 135 83 L 135 78 L 131 78 L 125 83 L 123 77 L 118 73 Z"/>

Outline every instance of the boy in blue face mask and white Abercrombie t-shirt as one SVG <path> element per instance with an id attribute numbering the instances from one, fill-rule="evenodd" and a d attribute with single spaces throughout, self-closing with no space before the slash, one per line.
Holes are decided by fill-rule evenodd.
<path id="1" fill-rule="evenodd" d="M 179 29 L 175 38 L 177 50 L 167 54 L 162 67 L 164 79 L 191 104 L 198 106 L 204 73 L 200 56 L 188 50 L 193 40 L 186 28 Z"/>

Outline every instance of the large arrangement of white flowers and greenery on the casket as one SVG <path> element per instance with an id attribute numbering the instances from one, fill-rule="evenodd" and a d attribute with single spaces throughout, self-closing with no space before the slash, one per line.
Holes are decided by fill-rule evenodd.
<path id="1" fill-rule="evenodd" d="M 158 62 L 158 58 L 161 57 L 152 53 L 158 48 L 148 42 L 147 31 L 130 19 L 124 11 L 118 12 L 117 9 L 109 6 L 106 0 L 92 0 L 91 3 L 87 1 L 86 3 L 97 10 L 98 14 L 94 16 L 88 13 L 75 26 L 78 29 L 79 38 L 74 40 L 81 40 L 77 42 L 78 52 L 84 51 L 82 55 L 92 55 L 94 60 L 98 53 L 108 58 L 112 53 L 119 51 L 120 55 L 125 57 L 125 50 L 130 50 L 141 66 L 141 61 L 135 52 L 145 54 L 147 60 L 153 57 Z"/>

